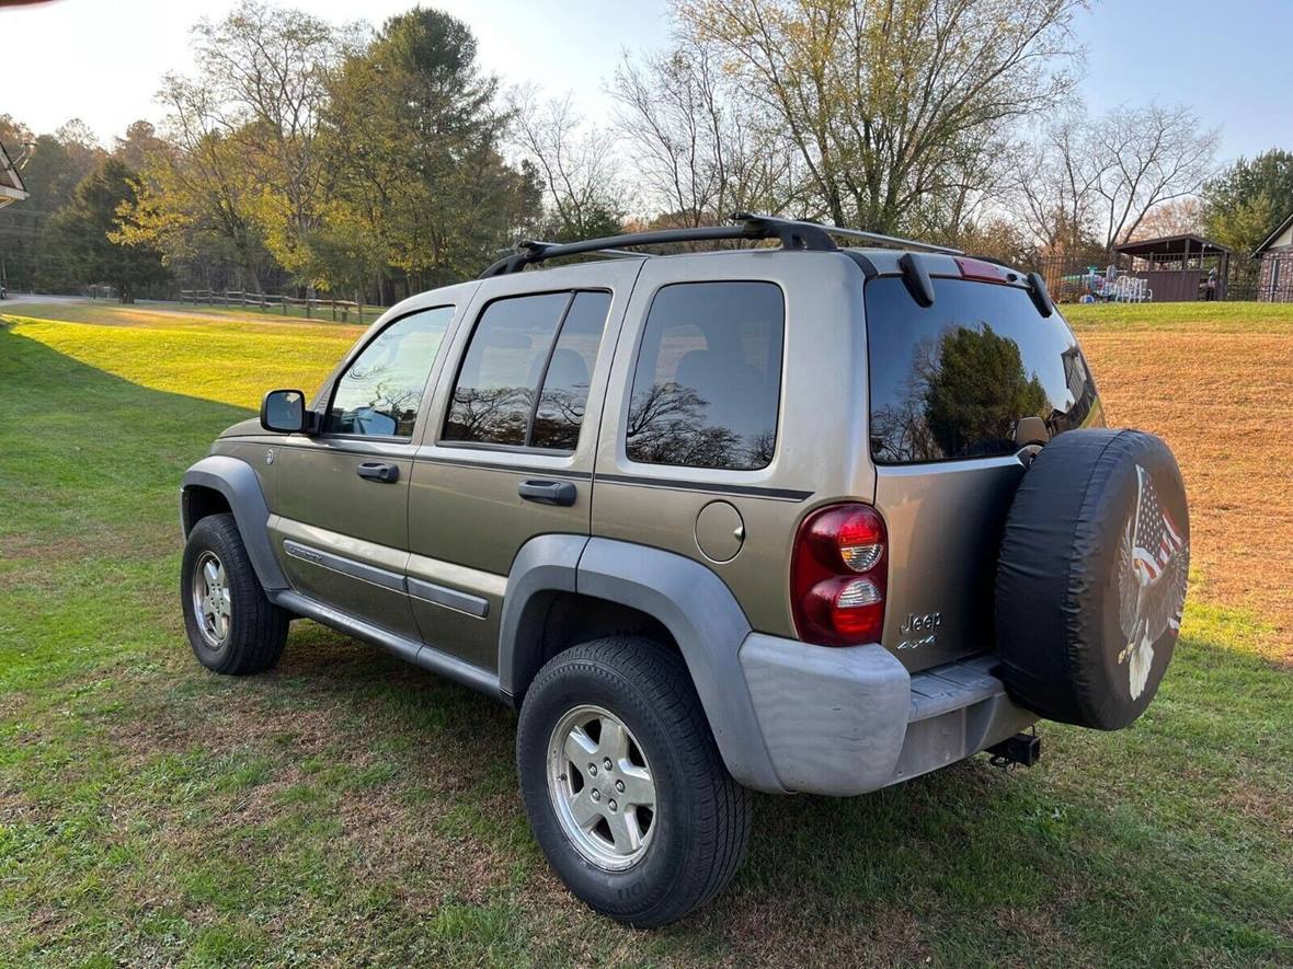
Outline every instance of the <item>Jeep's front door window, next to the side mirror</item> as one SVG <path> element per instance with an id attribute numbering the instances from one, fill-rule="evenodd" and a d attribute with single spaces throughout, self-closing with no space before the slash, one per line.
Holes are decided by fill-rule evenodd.
<path id="1" fill-rule="evenodd" d="M 431 366 L 453 317 L 453 306 L 437 306 L 383 329 L 336 382 L 325 432 L 410 437 Z"/>

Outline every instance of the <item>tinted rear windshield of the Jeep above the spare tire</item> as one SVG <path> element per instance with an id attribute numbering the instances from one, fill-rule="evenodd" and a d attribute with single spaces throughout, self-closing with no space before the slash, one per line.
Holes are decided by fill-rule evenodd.
<path id="1" fill-rule="evenodd" d="M 924 307 L 883 276 L 865 293 L 878 464 L 1010 455 L 1020 417 L 1041 417 L 1053 435 L 1103 424 L 1077 341 L 1024 289 L 935 279 Z"/>

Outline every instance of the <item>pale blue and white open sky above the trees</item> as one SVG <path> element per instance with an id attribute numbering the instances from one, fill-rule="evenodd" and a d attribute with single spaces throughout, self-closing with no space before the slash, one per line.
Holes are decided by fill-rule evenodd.
<path id="1" fill-rule="evenodd" d="M 287 0 L 330 21 L 374 25 L 414 0 Z M 666 0 L 423 0 L 465 21 L 504 83 L 573 92 L 592 121 L 623 53 L 666 47 Z M 0 114 L 37 133 L 81 118 L 110 138 L 146 118 L 167 71 L 191 67 L 189 27 L 234 0 L 53 0 L 0 6 Z M 1094 111 L 1151 99 L 1188 103 L 1221 129 L 1221 160 L 1293 149 L 1293 0 L 1103 0 L 1076 21 L 1086 47 L 1081 97 Z"/>

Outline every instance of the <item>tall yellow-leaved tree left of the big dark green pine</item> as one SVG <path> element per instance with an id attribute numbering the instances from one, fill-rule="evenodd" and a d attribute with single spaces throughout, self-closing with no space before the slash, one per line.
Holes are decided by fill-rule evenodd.
<path id="1" fill-rule="evenodd" d="M 221 21 L 200 19 L 193 36 L 197 75 L 167 75 L 158 96 L 175 150 L 145 158 L 123 238 L 160 247 L 171 262 L 198 252 L 234 260 L 257 291 L 268 251 L 308 284 L 317 262 L 308 239 L 330 204 L 319 115 L 343 35 L 300 10 L 242 0 Z M 134 130 L 141 142 L 147 134 Z M 136 147 L 129 138 L 123 147 Z"/>

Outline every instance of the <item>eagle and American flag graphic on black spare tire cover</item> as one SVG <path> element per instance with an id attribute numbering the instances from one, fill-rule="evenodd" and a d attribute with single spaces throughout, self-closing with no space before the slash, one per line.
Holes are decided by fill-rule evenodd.
<path id="1" fill-rule="evenodd" d="M 1153 665 L 1153 643 L 1169 629 L 1181 630 L 1190 572 L 1190 545 L 1139 464 L 1135 512 L 1122 528 L 1118 547 L 1118 618 L 1126 646 L 1118 664 L 1127 664 L 1131 699 L 1144 693 Z"/>

